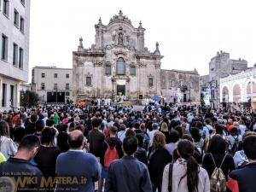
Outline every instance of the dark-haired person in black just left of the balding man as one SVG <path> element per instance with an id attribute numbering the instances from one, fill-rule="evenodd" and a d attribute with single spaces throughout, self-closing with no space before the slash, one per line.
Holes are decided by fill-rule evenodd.
<path id="1" fill-rule="evenodd" d="M 55 165 L 58 154 L 59 150 L 55 147 L 55 130 L 45 127 L 41 135 L 41 145 L 34 157 L 34 161 L 46 179 L 49 177 L 55 178 Z M 53 189 L 49 186 L 48 191 L 53 191 Z"/>

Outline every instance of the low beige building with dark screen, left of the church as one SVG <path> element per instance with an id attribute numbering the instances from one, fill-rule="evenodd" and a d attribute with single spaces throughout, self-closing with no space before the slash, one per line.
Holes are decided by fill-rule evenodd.
<path id="1" fill-rule="evenodd" d="M 32 90 L 40 102 L 65 103 L 71 96 L 72 68 L 33 67 Z"/>

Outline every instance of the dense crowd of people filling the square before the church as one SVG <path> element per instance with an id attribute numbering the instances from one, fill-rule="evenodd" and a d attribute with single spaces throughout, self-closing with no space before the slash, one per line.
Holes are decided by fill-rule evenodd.
<path id="1" fill-rule="evenodd" d="M 253 192 L 255 131 L 252 109 L 149 103 L 4 111 L 0 189 L 14 188 L 11 177 L 16 191 Z"/>

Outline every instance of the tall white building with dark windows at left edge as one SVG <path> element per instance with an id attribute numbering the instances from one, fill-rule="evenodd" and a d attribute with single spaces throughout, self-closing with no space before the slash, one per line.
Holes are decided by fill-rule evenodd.
<path id="1" fill-rule="evenodd" d="M 20 106 L 28 82 L 30 0 L 0 0 L 0 108 Z"/>

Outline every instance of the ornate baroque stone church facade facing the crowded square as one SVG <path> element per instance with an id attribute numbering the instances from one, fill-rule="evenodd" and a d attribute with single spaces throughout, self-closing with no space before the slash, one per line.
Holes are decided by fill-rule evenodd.
<path id="1" fill-rule="evenodd" d="M 137 100 L 162 96 L 162 76 L 166 76 L 166 70 L 160 69 L 163 55 L 160 55 L 158 43 L 154 52 L 145 47 L 142 23 L 138 27 L 133 26 L 131 20 L 119 11 L 107 26 L 100 19 L 95 29 L 95 44 L 84 49 L 80 38 L 78 50 L 73 51 L 73 99 L 126 96 Z M 170 73 L 183 72 L 170 70 Z M 198 78 L 199 87 L 198 73 L 188 74 Z M 172 77 L 166 80 L 173 81 Z M 179 79 L 175 80 L 176 87 L 179 87 Z M 168 91 L 165 93 L 168 95 Z M 196 100 L 200 100 L 199 97 Z"/>

